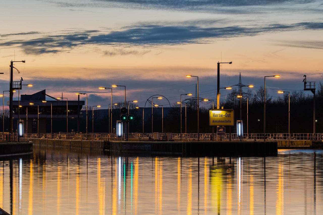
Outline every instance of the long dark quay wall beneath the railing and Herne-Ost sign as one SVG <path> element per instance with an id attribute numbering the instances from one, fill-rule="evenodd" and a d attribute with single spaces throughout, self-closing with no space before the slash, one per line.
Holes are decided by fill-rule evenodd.
<path id="1" fill-rule="evenodd" d="M 67 148 L 86 148 L 108 151 L 158 153 L 165 155 L 214 155 L 214 151 L 222 151 L 223 155 L 246 155 L 250 151 L 258 153 L 261 151 L 265 156 L 269 156 L 267 151 L 275 151 L 276 148 L 311 148 L 311 140 L 275 140 L 275 141 L 103 141 L 103 140 L 65 140 L 65 139 L 45 139 L 29 138 L 35 145 Z M 266 146 L 262 146 L 265 144 Z M 276 144 L 276 146 L 275 146 Z M 317 144 L 317 143 L 316 143 Z M 320 146 L 322 142 L 319 141 Z M 231 147 L 231 148 L 230 148 Z M 266 148 L 267 147 L 267 148 Z M 268 148 L 269 147 L 269 148 Z M 319 147 L 317 147 L 319 148 Z M 231 151 L 227 153 L 225 150 Z M 240 150 L 240 151 L 239 151 Z M 196 153 L 199 152 L 199 153 Z M 209 153 L 212 152 L 212 153 Z M 224 153 L 225 152 L 225 153 Z M 271 152 L 270 152 L 271 153 Z M 259 156 L 259 155 L 258 155 Z M 260 155 L 261 156 L 261 155 Z"/>

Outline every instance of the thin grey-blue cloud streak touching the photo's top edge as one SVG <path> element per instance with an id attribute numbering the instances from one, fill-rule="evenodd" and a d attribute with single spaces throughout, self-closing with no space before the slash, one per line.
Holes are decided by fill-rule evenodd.
<path id="1" fill-rule="evenodd" d="M 291 9 L 290 5 L 307 5 L 302 10 L 313 10 L 318 0 L 85 0 L 51 1 L 61 7 L 119 7 L 144 10 L 176 10 L 204 13 L 255 13 L 255 7 L 275 6 Z M 311 7 L 310 5 L 314 5 Z M 253 8 L 253 9 L 252 9 Z M 295 7 L 293 7 L 295 9 Z M 300 8 L 299 8 L 300 9 Z M 316 8 L 317 9 L 317 8 Z"/>

